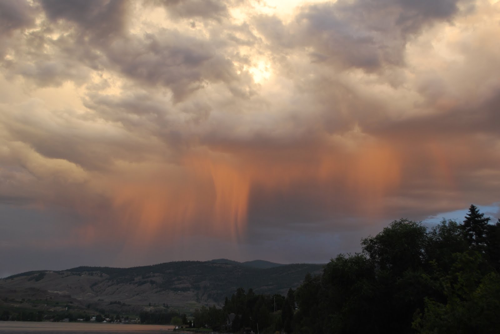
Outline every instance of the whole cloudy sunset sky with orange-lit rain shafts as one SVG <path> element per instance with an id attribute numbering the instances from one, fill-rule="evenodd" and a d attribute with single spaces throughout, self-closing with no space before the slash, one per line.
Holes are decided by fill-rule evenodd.
<path id="1" fill-rule="evenodd" d="M 498 36 L 495 0 L 0 0 L 0 277 L 496 221 Z"/>

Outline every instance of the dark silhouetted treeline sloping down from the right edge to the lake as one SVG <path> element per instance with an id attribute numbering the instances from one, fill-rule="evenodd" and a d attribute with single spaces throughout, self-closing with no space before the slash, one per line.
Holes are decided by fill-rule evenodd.
<path id="1" fill-rule="evenodd" d="M 229 332 L 497 333 L 500 219 L 471 205 L 463 223 L 428 230 L 401 219 L 306 275 L 286 297 L 238 289 L 222 309 L 202 308 L 196 327 Z M 231 316 L 232 314 L 232 316 Z"/>

